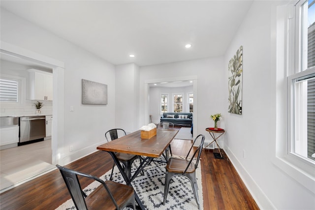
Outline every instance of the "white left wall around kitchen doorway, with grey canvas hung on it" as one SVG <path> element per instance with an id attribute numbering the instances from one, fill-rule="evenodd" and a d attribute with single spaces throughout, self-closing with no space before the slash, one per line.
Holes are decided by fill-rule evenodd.
<path id="1" fill-rule="evenodd" d="M 58 145 L 58 151 L 62 151 L 59 164 L 95 151 L 96 146 L 104 142 L 104 132 L 115 124 L 114 65 L 2 8 L 0 15 L 1 41 L 65 64 L 64 142 Z M 82 105 L 81 79 L 107 84 L 108 105 Z M 74 112 L 70 112 L 70 106 L 74 107 Z M 70 146 L 73 147 L 71 152 Z"/>

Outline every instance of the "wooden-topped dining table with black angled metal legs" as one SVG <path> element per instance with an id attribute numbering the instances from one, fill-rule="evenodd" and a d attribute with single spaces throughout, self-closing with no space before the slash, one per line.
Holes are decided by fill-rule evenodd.
<path id="1" fill-rule="evenodd" d="M 97 147 L 97 150 L 103 150 L 110 153 L 126 181 L 126 184 L 131 186 L 132 180 L 134 180 L 154 158 L 158 158 L 163 154 L 177 133 L 178 130 L 157 130 L 156 136 L 153 136 L 150 139 L 141 139 L 141 131 L 138 130 L 114 141 L 102 144 Z M 142 162 L 130 179 L 126 176 L 124 168 L 119 163 L 116 152 L 143 156 Z M 168 157 L 166 157 L 166 159 L 167 158 Z M 138 204 L 137 209 L 145 210 L 137 193 L 134 192 L 134 194 Z"/>

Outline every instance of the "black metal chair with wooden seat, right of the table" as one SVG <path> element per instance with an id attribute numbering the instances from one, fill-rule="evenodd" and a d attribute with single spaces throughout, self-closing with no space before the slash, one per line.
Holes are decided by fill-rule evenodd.
<path id="1" fill-rule="evenodd" d="M 192 147 L 195 144 L 196 140 L 200 139 L 199 137 L 201 137 L 201 143 L 198 146 L 198 148 L 194 151 L 191 159 L 188 160 L 189 153 L 192 150 Z M 169 183 L 171 179 L 175 176 L 183 176 L 189 179 L 189 181 L 191 182 L 193 195 L 197 202 L 198 209 L 200 209 L 200 203 L 199 203 L 199 197 L 198 197 L 198 186 L 197 186 L 197 180 L 196 180 L 196 169 L 198 167 L 204 141 L 205 141 L 205 136 L 200 134 L 194 139 L 185 159 L 175 158 L 175 157 L 169 158 L 166 165 L 163 205 L 165 205 L 165 202 L 166 202 L 168 187 L 169 187 Z M 196 154 L 197 154 L 197 158 L 195 159 L 195 163 L 194 163 L 193 159 L 196 156 Z"/>

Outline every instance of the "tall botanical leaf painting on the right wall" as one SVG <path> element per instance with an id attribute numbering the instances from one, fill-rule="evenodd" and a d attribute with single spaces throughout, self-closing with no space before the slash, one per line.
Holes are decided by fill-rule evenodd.
<path id="1" fill-rule="evenodd" d="M 242 114 L 243 46 L 228 62 L 228 112 Z"/>

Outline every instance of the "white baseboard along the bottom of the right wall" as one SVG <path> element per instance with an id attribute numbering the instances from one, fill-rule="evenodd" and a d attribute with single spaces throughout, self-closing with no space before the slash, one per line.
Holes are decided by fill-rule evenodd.
<path id="1" fill-rule="evenodd" d="M 221 146 L 221 145 L 220 145 Z M 246 171 L 241 162 L 236 158 L 233 152 L 227 148 L 226 155 L 232 162 L 234 168 L 239 174 L 240 178 L 245 183 L 247 189 L 250 191 L 253 199 L 256 201 L 258 207 L 262 210 L 275 210 L 276 207 L 271 203 L 265 193 L 260 189 L 259 185 L 252 179 L 251 175 Z"/>

